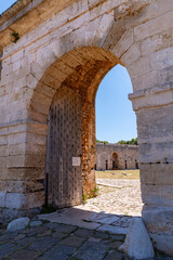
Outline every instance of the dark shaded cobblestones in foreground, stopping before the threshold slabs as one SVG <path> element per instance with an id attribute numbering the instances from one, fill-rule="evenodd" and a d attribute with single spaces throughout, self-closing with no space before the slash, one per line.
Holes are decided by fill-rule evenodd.
<path id="1" fill-rule="evenodd" d="M 123 260 L 124 235 L 48 221 L 31 221 L 19 232 L 0 231 L 1 260 Z M 157 260 L 172 260 L 156 257 Z"/>

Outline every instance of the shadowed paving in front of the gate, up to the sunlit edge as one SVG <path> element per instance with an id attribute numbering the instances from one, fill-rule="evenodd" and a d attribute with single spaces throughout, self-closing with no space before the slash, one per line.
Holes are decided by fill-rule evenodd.
<path id="1" fill-rule="evenodd" d="M 32 219 L 25 230 L 0 231 L 0 259 L 122 260 L 132 217 L 66 208 Z M 156 257 L 155 259 L 169 259 Z"/>

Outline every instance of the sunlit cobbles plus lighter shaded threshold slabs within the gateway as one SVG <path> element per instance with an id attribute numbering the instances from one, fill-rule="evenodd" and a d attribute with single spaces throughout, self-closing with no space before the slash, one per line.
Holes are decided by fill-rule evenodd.
<path id="1" fill-rule="evenodd" d="M 127 234 L 132 217 L 141 217 L 139 180 L 97 179 L 96 182 L 99 187 L 97 197 L 39 218 L 89 230 Z"/>

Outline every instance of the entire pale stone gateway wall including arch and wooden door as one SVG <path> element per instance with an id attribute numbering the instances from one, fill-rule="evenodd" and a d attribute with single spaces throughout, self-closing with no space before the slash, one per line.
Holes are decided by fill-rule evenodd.
<path id="1" fill-rule="evenodd" d="M 143 219 L 173 255 L 173 1 L 18 0 L 0 17 L 0 56 L 2 218 L 78 204 L 95 187 L 95 94 L 121 64 Z"/>

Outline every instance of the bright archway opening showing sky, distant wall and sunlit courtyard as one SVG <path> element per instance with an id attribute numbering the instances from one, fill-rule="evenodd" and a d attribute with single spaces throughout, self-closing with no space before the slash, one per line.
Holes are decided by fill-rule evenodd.
<path id="1" fill-rule="evenodd" d="M 131 88 L 127 69 L 119 65 L 99 84 L 96 96 L 95 176 L 101 197 L 93 200 L 102 211 L 112 213 L 118 219 L 123 216 L 128 220 L 141 216 L 143 208 L 139 170 L 136 169 L 136 118 L 128 100 Z M 119 222 L 114 225 L 118 226 Z"/>

